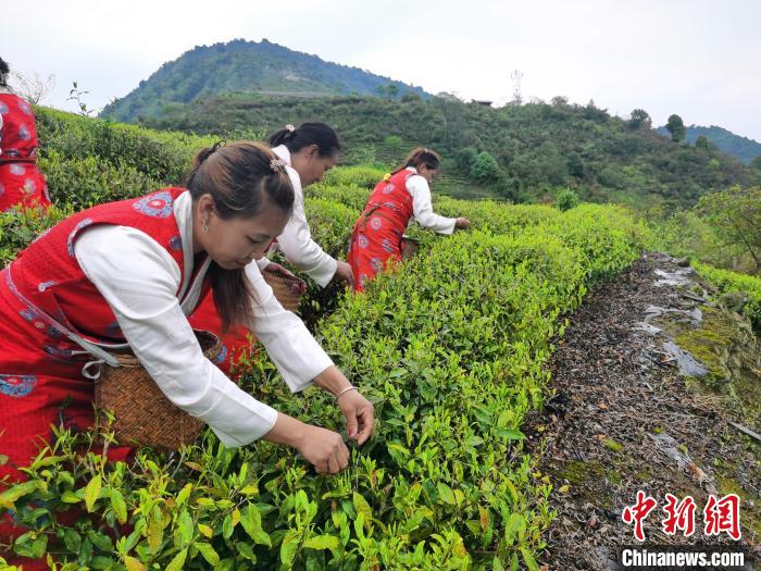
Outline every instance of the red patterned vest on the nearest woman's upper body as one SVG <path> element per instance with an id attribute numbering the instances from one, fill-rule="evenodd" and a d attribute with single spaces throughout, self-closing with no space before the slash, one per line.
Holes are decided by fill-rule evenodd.
<path id="1" fill-rule="evenodd" d="M 163 246 L 183 273 L 183 244 L 172 203 L 186 191 L 185 188 L 164 188 L 142 198 L 100 204 L 67 218 L 11 263 L 12 285 L 9 286 L 85 338 L 123 342 L 113 311 L 74 256 L 74 240 L 93 224 L 130 226 Z M 34 310 L 29 311 L 32 314 L 25 318 L 32 321 Z"/>

